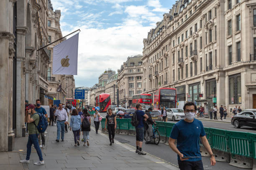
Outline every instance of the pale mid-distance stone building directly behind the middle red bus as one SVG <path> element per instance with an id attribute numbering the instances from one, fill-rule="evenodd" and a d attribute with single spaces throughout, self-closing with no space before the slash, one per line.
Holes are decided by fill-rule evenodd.
<path id="1" fill-rule="evenodd" d="M 118 70 L 118 91 L 119 91 L 119 105 L 130 106 L 132 104 L 132 97 L 135 94 L 140 94 L 143 89 L 143 65 L 142 55 L 135 55 L 128 57 L 126 62 L 121 65 Z"/>

